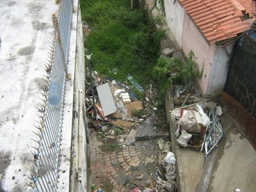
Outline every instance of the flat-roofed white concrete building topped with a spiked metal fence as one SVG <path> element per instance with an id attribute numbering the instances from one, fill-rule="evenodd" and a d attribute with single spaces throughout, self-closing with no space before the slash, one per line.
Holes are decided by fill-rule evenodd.
<path id="1" fill-rule="evenodd" d="M 0 191 L 86 191 L 79 1 L 1 0 L 0 38 Z"/>

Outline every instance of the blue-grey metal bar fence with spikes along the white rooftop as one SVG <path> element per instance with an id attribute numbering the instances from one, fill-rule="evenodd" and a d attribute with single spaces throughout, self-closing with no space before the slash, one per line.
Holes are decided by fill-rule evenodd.
<path id="1" fill-rule="evenodd" d="M 46 65 L 42 106 L 38 109 L 40 121 L 35 127 L 35 166 L 28 185 L 35 191 L 58 189 L 59 155 L 63 123 L 63 101 L 67 79 L 68 44 L 72 23 L 72 0 L 60 2 L 52 15 L 52 33 L 49 63 Z"/>

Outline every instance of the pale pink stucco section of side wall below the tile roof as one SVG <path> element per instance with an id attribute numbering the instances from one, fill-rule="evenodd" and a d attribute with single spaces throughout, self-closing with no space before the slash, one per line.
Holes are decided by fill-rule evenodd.
<path id="1" fill-rule="evenodd" d="M 200 84 L 200 88 L 205 95 L 211 94 L 207 93 L 207 86 L 209 86 L 212 60 L 214 58 L 216 45 L 209 44 L 207 40 L 205 40 L 204 36 L 202 33 L 200 33 L 198 28 L 196 28 L 195 23 L 193 20 L 191 20 L 188 13 L 184 14 L 182 49 L 185 56 L 188 56 L 191 50 L 194 52 L 195 61 L 198 64 L 199 70 L 202 70 L 202 67 L 204 66 L 204 74 L 198 83 Z"/>

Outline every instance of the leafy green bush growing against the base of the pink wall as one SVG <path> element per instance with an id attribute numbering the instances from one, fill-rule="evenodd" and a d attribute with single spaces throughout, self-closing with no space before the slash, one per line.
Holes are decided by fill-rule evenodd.
<path id="1" fill-rule="evenodd" d="M 196 62 L 194 60 L 194 53 L 189 52 L 188 59 L 183 62 L 179 58 L 167 58 L 160 56 L 154 67 L 154 78 L 159 87 L 158 99 L 159 104 L 164 104 L 165 93 L 172 83 L 186 84 L 193 78 L 202 77 L 202 71 L 195 71 Z"/>

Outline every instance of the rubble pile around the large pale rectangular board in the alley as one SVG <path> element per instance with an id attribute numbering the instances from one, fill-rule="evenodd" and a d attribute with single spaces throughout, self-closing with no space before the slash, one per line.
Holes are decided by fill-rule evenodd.
<path id="1" fill-rule="evenodd" d="M 157 90 L 152 88 L 152 84 L 144 90 L 130 75 L 126 82 L 120 83 L 112 77 L 99 77 L 96 71 L 92 73 L 92 79 L 94 84 L 90 84 L 85 100 L 90 120 L 88 127 L 95 128 L 101 138 L 124 134 L 125 139 L 120 140 L 120 146 L 148 138 L 150 134 L 143 127 L 152 126 L 154 111 L 157 110 L 157 102 L 154 102 Z M 141 128 L 138 132 L 135 131 L 137 127 Z"/>

